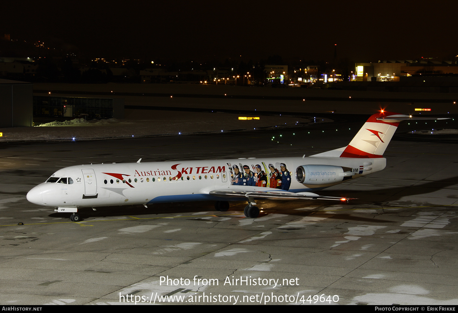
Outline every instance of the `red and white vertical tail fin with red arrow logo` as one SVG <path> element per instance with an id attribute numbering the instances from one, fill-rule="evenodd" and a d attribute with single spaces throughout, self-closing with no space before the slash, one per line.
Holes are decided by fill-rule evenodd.
<path id="1" fill-rule="evenodd" d="M 340 157 L 382 157 L 398 128 L 399 122 L 405 117 L 406 115 L 384 111 L 372 115 L 350 141 Z"/>

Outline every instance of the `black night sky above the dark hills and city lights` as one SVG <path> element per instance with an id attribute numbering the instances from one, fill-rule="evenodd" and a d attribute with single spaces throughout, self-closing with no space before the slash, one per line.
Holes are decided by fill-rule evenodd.
<path id="1" fill-rule="evenodd" d="M 361 62 L 458 54 L 455 1 L 94 3 L 2 1 L 0 33 L 93 57 L 197 62 L 332 60 L 334 44 Z"/>

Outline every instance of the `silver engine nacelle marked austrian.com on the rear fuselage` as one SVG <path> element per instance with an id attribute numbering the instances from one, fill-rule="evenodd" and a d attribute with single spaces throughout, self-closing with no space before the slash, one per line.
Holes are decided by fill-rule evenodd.
<path id="1" fill-rule="evenodd" d="M 301 165 L 296 168 L 296 179 L 306 185 L 338 183 L 348 176 L 344 169 L 334 165 Z"/>

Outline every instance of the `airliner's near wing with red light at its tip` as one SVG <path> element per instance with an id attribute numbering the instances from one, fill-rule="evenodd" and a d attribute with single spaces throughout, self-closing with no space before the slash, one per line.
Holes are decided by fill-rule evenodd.
<path id="1" fill-rule="evenodd" d="M 234 197 L 246 197 L 246 198 L 268 198 L 268 199 L 284 199 L 284 200 L 340 200 L 348 201 L 357 198 L 342 198 L 342 197 L 328 197 L 321 196 L 319 194 L 314 194 L 311 192 L 289 192 L 285 190 L 273 190 L 270 188 L 256 188 L 256 189 L 268 189 L 268 190 L 254 190 L 248 189 L 245 186 L 231 186 L 239 188 L 229 188 L 229 189 L 214 189 L 208 191 L 208 194 L 218 195 L 218 196 L 234 196 Z M 245 187 L 240 189 L 240 187 Z"/>

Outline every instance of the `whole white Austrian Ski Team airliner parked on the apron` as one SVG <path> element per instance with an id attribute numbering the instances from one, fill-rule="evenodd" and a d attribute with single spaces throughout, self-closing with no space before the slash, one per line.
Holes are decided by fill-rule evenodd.
<path id="1" fill-rule="evenodd" d="M 27 193 L 27 200 L 71 212 L 109 205 L 215 200 L 219 211 L 230 200 L 245 199 L 245 216 L 259 215 L 256 199 L 342 200 L 316 191 L 381 171 L 383 152 L 398 124 L 409 115 L 372 115 L 348 146 L 310 157 L 105 163 L 65 167 Z M 289 169 L 293 171 L 289 171 Z M 95 209 L 94 209 L 95 210 Z"/>

